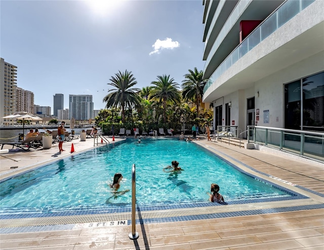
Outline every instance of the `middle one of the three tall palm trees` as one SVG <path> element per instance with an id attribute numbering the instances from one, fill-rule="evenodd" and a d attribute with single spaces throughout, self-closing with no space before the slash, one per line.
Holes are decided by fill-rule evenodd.
<path id="1" fill-rule="evenodd" d="M 170 75 L 157 76 L 157 81 L 151 82 L 151 84 L 155 86 L 152 87 L 149 97 L 156 98 L 159 102 L 163 101 L 163 119 L 166 123 L 167 100 L 171 102 L 180 101 L 179 84 L 175 83 L 173 78 L 170 79 Z"/>

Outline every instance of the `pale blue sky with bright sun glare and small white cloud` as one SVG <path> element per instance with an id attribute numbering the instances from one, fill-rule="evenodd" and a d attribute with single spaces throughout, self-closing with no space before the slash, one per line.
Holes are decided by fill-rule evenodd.
<path id="1" fill-rule="evenodd" d="M 202 0 L 1 0 L 1 57 L 18 67 L 17 86 L 34 103 L 53 95 L 93 95 L 103 109 L 118 70 L 133 73 L 137 88 L 157 76 L 181 84 L 188 69 L 204 68 Z"/>

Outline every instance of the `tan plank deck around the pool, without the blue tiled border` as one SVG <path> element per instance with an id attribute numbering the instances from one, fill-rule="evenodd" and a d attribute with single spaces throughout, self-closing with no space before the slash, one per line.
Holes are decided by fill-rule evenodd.
<path id="1" fill-rule="evenodd" d="M 123 137 L 115 137 L 115 141 Z M 108 139 L 111 143 L 112 138 Z M 70 153 L 71 144 L 75 152 Z M 188 142 L 192 143 L 192 142 Z M 277 177 L 274 182 L 297 185 L 309 200 L 324 204 L 324 164 L 300 157 L 247 150 L 202 137 L 195 143 L 236 162 L 245 171 Z M 19 172 L 94 148 L 94 139 L 64 142 L 47 150 L 18 151 L 0 157 L 0 180 Z M 99 143 L 98 146 L 101 146 Z M 95 147 L 98 147 L 95 146 Z M 4 148 L 10 148 L 5 146 Z M 16 160 L 16 161 L 15 161 Z M 11 167 L 18 167 L 11 169 Z M 247 167 L 250 166 L 250 167 Z M 280 180 L 281 179 L 281 180 Z M 286 181 L 286 183 L 284 183 Z M 289 185 L 289 184 L 288 184 Z M 299 187 L 304 189 L 300 189 Z M 310 191 L 310 192 L 309 192 Z M 296 200 L 299 202 L 299 200 Z M 294 204 L 295 206 L 298 204 Z M 224 206 L 226 207 L 226 206 Z M 278 209 L 279 211 L 279 209 Z M 287 210 L 228 218 L 137 224 L 139 238 L 129 239 L 131 225 L 97 226 L 73 230 L 0 234 L 0 249 L 323 249 L 324 208 Z"/>

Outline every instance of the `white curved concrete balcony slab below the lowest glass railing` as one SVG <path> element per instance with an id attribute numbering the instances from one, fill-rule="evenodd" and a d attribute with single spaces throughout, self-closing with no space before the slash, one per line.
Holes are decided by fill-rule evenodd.
<path id="1" fill-rule="evenodd" d="M 290 28 L 293 27 L 290 26 Z M 203 101 L 213 102 L 239 89 L 253 87 L 255 82 L 266 76 L 317 53 L 324 53 L 324 21 L 297 35 L 289 42 L 268 51 L 268 48 L 273 47 L 277 41 L 282 41 L 282 35 L 287 33 L 285 27 L 280 29 L 240 58 L 213 82 L 204 93 Z M 289 34 L 287 36 L 289 40 Z"/>

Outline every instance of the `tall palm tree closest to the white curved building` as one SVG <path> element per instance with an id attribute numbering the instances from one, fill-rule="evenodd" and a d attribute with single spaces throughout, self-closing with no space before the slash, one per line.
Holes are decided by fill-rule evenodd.
<path id="1" fill-rule="evenodd" d="M 193 70 L 189 69 L 189 73 L 184 75 L 185 80 L 182 81 L 182 96 L 187 100 L 196 102 L 197 116 L 199 115 L 199 103 L 204 95 L 204 87 L 206 80 L 203 80 L 203 70 L 198 72 L 194 67 Z"/>

